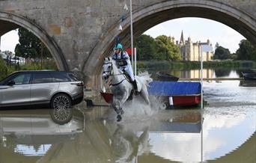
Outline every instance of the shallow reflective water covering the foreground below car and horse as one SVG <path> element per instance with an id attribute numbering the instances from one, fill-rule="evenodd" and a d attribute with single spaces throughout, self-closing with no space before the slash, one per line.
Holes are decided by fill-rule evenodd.
<path id="1" fill-rule="evenodd" d="M 49 109 L 0 111 L 0 163 L 254 163 L 256 87 L 239 85 L 204 83 L 203 126 L 199 108 L 157 104 L 127 104 L 121 123 L 108 107 L 76 107 L 65 124 Z"/>

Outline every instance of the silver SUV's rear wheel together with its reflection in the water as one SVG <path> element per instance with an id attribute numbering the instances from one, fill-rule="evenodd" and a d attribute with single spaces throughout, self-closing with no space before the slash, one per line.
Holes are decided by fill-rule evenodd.
<path id="1" fill-rule="evenodd" d="M 72 108 L 70 97 L 66 94 L 57 94 L 52 98 L 52 110 L 50 111 L 52 120 L 58 124 L 65 124 L 72 119 Z"/>

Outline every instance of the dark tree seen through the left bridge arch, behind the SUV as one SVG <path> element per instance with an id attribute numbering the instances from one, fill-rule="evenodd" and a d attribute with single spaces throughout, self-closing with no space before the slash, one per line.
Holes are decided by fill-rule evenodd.
<path id="1" fill-rule="evenodd" d="M 15 47 L 16 56 L 23 58 L 40 58 L 41 46 L 43 46 L 43 58 L 52 58 L 49 50 L 44 44 L 30 31 L 19 28 L 19 43 Z"/>

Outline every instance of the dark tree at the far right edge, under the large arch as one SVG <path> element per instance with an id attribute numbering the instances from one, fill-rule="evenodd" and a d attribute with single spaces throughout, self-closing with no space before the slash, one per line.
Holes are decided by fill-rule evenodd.
<path id="1" fill-rule="evenodd" d="M 256 61 L 256 48 L 249 40 L 241 40 L 237 49 L 237 60 L 252 60 Z"/>

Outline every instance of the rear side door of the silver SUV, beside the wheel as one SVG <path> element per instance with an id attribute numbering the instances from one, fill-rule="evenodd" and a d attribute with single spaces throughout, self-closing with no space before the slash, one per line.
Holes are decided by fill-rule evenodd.
<path id="1" fill-rule="evenodd" d="M 31 83 L 31 104 L 49 103 L 52 94 L 58 90 L 49 72 L 36 72 Z"/>

